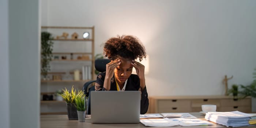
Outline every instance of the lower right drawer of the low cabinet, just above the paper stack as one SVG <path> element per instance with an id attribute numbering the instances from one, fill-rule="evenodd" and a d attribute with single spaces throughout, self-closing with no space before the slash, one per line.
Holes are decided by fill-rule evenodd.
<path id="1" fill-rule="evenodd" d="M 240 111 L 244 113 L 251 113 L 252 108 L 250 106 L 229 106 L 221 107 L 220 112 L 231 112 L 231 111 Z"/>

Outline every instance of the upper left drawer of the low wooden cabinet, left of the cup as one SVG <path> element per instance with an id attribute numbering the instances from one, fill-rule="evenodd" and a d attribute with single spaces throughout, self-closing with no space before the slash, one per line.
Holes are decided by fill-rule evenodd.
<path id="1" fill-rule="evenodd" d="M 181 107 L 190 108 L 191 101 L 183 99 L 168 99 L 168 100 L 159 100 L 158 108 L 172 108 L 172 107 Z"/>

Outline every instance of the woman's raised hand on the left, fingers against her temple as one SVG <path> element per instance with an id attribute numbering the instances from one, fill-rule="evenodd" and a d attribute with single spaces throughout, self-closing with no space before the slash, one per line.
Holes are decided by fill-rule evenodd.
<path id="1" fill-rule="evenodd" d="M 114 74 L 114 69 L 121 64 L 120 60 L 114 60 L 106 64 L 106 77 L 111 79 Z"/>

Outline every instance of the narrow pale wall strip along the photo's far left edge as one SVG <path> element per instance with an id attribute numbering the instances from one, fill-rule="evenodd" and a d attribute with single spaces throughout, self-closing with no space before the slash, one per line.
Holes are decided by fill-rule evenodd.
<path id="1" fill-rule="evenodd" d="M 8 0 L 0 1 L 0 128 L 10 128 Z"/>

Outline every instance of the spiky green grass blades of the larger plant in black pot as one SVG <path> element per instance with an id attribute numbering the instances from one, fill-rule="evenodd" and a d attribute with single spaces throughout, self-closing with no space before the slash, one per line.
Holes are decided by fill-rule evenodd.
<path id="1" fill-rule="evenodd" d="M 69 90 L 67 90 L 67 88 L 65 87 L 65 90 L 63 90 L 62 94 L 59 94 L 61 97 L 63 97 L 63 99 L 66 101 L 66 103 L 75 103 L 75 99 L 76 98 L 82 98 L 85 97 L 85 94 L 83 93 L 82 90 L 76 91 L 74 89 L 74 86 L 72 86 L 71 88 L 71 92 L 69 92 Z"/>

